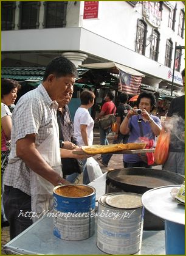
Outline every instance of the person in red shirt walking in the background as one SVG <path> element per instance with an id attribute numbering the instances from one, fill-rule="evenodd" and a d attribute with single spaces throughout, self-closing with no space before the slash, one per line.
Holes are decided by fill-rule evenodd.
<path id="1" fill-rule="evenodd" d="M 113 99 L 114 99 L 114 93 L 108 92 L 105 97 L 105 103 L 103 104 L 100 113 L 98 114 L 97 118 L 95 119 L 96 121 L 99 119 L 102 119 L 102 117 L 104 117 L 105 115 L 115 114 L 116 107 L 112 101 Z M 108 142 L 107 136 L 108 136 L 109 132 L 111 131 L 111 127 L 107 128 L 105 130 L 103 130 L 101 127 L 99 127 L 99 130 L 100 130 L 100 144 L 108 145 L 109 142 Z M 97 159 L 102 159 L 102 156 L 100 156 Z"/>

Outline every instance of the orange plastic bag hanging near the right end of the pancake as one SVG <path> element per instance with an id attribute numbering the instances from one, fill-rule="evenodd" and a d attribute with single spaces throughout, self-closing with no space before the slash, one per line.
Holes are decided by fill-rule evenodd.
<path id="1" fill-rule="evenodd" d="M 156 164 L 164 164 L 168 158 L 168 150 L 170 145 L 170 131 L 162 131 L 157 139 L 156 148 L 154 151 L 154 160 Z"/>

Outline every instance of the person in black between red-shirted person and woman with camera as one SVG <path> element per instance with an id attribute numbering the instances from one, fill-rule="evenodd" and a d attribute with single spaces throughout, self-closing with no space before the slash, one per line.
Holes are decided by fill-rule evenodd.
<path id="1" fill-rule="evenodd" d="M 116 109 L 116 123 L 117 123 L 117 130 L 115 131 L 114 135 L 114 141 L 113 144 L 120 143 L 123 141 L 123 144 L 128 142 L 129 134 L 122 134 L 120 133 L 120 125 L 123 122 L 123 119 L 125 119 L 126 114 L 131 108 L 129 104 L 126 102 L 128 101 L 128 94 L 123 92 L 119 96 L 120 104 Z M 109 160 L 111 159 L 112 154 L 105 154 L 102 156 L 102 159 L 100 159 L 100 163 L 103 164 L 103 166 L 108 166 Z"/>

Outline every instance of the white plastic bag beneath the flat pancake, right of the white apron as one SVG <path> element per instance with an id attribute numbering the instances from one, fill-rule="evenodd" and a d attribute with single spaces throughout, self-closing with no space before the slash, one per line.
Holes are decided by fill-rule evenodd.
<path id="1" fill-rule="evenodd" d="M 100 168 L 99 164 L 92 157 L 87 159 L 86 169 L 90 182 L 103 175 L 102 169 Z"/>

